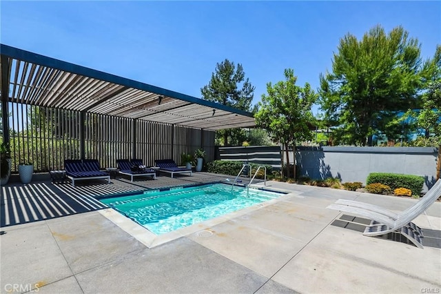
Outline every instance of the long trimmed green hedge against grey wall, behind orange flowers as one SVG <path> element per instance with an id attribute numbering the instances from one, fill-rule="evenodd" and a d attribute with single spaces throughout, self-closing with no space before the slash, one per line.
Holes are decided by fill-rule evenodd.
<path id="1" fill-rule="evenodd" d="M 424 177 L 398 173 L 370 173 L 366 184 L 373 183 L 381 183 L 391 187 L 391 189 L 408 188 L 412 191 L 412 195 L 419 197 L 424 185 Z"/>

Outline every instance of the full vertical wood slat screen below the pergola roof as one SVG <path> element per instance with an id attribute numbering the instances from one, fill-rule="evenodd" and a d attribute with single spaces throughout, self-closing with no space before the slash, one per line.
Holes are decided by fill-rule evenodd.
<path id="1" fill-rule="evenodd" d="M 12 173 L 20 163 L 31 162 L 38 173 L 63 169 L 64 159 L 81 158 L 80 112 L 16 102 L 9 102 L 9 109 Z M 147 166 L 169 158 L 181 164 L 181 154 L 193 155 L 201 144 L 206 161 L 214 159 L 214 131 L 89 112 L 84 122 L 85 159 L 99 159 L 106 168 L 116 167 L 116 159 L 132 158 L 133 122 L 135 157 Z"/>

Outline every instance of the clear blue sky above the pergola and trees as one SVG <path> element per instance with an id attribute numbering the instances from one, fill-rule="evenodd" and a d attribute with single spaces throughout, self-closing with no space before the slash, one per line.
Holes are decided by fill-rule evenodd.
<path id="1" fill-rule="evenodd" d="M 433 57 L 441 1 L 1 1 L 1 43 L 194 97 L 216 63 L 256 87 L 293 68 L 316 89 L 339 39 L 403 26 Z M 314 112 L 317 108 L 314 107 Z"/>

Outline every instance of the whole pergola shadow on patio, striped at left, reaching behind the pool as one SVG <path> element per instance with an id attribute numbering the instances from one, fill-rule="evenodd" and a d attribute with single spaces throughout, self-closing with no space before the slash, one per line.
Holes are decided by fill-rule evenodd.
<path id="1" fill-rule="evenodd" d="M 96 197 L 120 193 L 136 193 L 143 190 L 192 186 L 213 182 L 225 182 L 227 175 L 194 173 L 192 177 L 157 177 L 156 180 L 143 177 L 130 182 L 118 177 L 110 184 L 104 180 L 81 181 L 72 186 L 70 182 L 52 184 L 50 181 L 31 184 L 12 183 L 1 187 L 0 227 L 37 222 L 55 217 L 100 210 L 107 206 Z M 244 184 L 249 178 L 242 177 Z M 255 179 L 254 183 L 261 182 Z"/>

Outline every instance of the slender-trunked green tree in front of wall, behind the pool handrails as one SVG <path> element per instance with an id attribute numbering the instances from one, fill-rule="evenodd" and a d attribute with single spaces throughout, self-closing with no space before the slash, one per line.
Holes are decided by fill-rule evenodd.
<path id="1" fill-rule="evenodd" d="M 285 147 L 288 167 L 288 147 L 294 146 L 294 178 L 296 178 L 295 146 L 301 141 L 311 140 L 314 137 L 309 129 L 309 123 L 314 121 L 311 106 L 317 100 L 316 93 L 308 83 L 302 88 L 296 86 L 296 81 L 294 70 L 285 69 L 285 81 L 278 81 L 274 86 L 271 82 L 267 84 L 268 95 L 262 95 L 262 101 L 259 102 L 260 109 L 256 113 L 256 124 L 265 128 L 271 139 Z"/>

